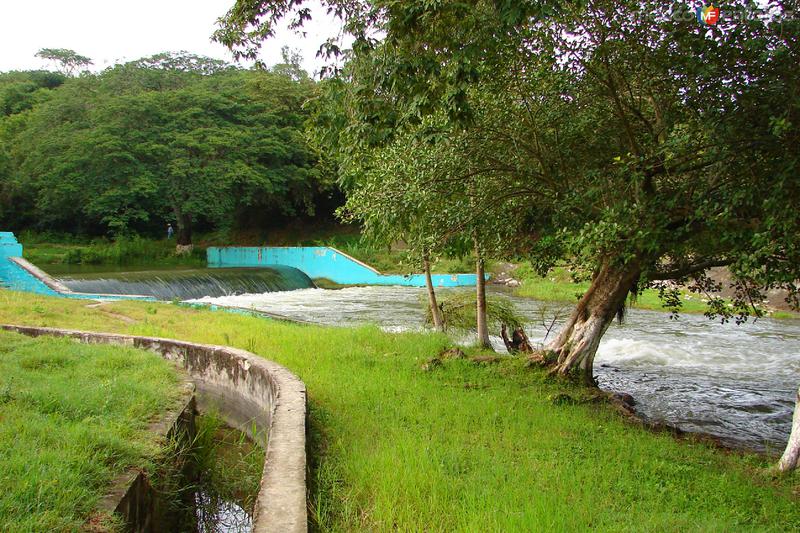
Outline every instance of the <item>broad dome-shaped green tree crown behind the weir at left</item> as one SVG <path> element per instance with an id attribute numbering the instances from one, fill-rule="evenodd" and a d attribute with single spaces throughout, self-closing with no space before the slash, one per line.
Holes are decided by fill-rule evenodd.
<path id="1" fill-rule="evenodd" d="M 317 172 L 300 111 L 311 89 L 159 56 L 70 80 L 33 111 L 13 155 L 42 223 L 120 234 L 170 220 L 189 245 L 198 221 L 226 227 L 243 208 L 313 203 Z"/>

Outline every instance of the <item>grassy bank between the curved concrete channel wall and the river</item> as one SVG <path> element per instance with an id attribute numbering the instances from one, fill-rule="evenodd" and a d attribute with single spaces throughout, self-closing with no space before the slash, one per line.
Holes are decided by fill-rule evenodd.
<path id="1" fill-rule="evenodd" d="M 436 334 L 323 328 L 166 304 L 0 291 L 0 322 L 229 344 L 308 386 L 310 505 L 325 531 L 791 531 L 797 476 L 676 441 L 507 358 L 422 365 Z"/>

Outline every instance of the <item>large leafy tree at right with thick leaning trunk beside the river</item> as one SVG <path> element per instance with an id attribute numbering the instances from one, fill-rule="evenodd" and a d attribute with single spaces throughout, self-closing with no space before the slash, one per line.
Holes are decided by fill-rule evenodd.
<path id="1" fill-rule="evenodd" d="M 519 217 L 535 263 L 589 273 L 549 345 L 557 372 L 592 383 L 602 335 L 645 286 L 706 290 L 704 272 L 729 265 L 734 308 L 712 298 L 710 314 L 740 319 L 758 313 L 759 287 L 794 291 L 798 28 L 782 3 L 730 3 L 715 26 L 655 1 L 557 13 L 532 2 L 328 4 L 356 39 L 344 119 L 355 146 L 445 115 L 446 142 L 466 139 L 455 158 L 482 147 L 461 176 L 506 191 L 473 201 L 528 199 Z M 302 22 L 303 10 L 240 0 L 218 38 L 253 53 L 278 18 Z"/>

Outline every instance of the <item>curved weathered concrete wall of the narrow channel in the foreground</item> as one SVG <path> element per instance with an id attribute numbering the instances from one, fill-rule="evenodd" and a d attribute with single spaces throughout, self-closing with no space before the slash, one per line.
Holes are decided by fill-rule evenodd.
<path id="1" fill-rule="evenodd" d="M 255 427 L 259 444 L 266 446 L 253 532 L 307 531 L 306 388 L 286 368 L 226 346 L 32 326 L 0 328 L 32 337 L 133 346 L 175 362 L 194 381 L 201 409 L 213 406 L 226 422 L 247 432 Z"/>

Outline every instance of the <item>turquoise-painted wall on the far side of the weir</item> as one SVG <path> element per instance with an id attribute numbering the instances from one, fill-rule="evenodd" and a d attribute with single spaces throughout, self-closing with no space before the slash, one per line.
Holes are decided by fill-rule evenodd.
<path id="1" fill-rule="evenodd" d="M 310 278 L 327 278 L 342 285 L 402 285 L 424 287 L 425 276 L 381 274 L 374 268 L 353 259 L 335 248 L 308 247 L 211 247 L 209 267 L 264 267 L 286 265 L 305 272 Z M 436 287 L 475 286 L 475 274 L 434 274 Z"/>

